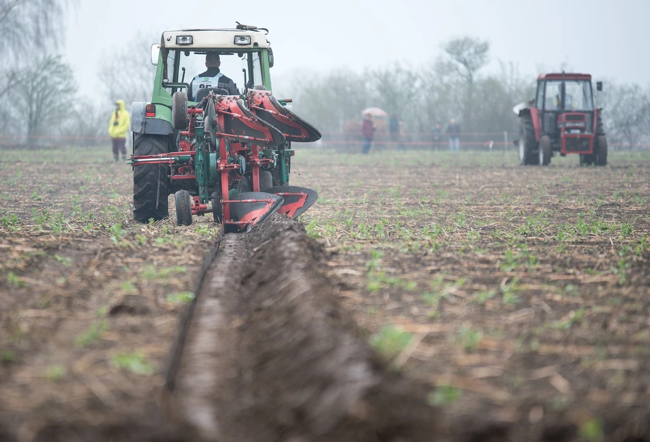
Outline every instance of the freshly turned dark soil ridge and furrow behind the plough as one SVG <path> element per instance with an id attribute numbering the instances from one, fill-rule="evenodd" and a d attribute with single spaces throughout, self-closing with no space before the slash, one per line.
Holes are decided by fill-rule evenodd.
<path id="1" fill-rule="evenodd" d="M 184 426 L 219 442 L 432 438 L 427 388 L 377 359 L 339 306 L 322 259 L 281 216 L 223 237 L 174 382 Z"/>

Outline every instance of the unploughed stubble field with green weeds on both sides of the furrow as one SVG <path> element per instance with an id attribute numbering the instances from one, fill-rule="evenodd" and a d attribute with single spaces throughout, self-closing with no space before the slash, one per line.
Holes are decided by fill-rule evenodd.
<path id="1" fill-rule="evenodd" d="M 109 159 L 3 151 L 0 440 L 156 406 L 218 231 L 135 225 Z M 292 184 L 321 195 L 301 221 L 338 297 L 453 439 L 650 440 L 650 155 L 515 162 L 299 151 Z"/>

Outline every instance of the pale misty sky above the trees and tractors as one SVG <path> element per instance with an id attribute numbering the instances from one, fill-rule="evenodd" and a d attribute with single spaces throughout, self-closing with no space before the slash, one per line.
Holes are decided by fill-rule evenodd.
<path id="1" fill-rule="evenodd" d="M 180 7 L 187 13 L 175 12 Z M 566 62 L 597 79 L 647 86 L 649 18 L 650 0 L 79 0 L 63 52 L 88 95 L 97 91 L 101 57 L 138 34 L 153 43 L 164 30 L 235 21 L 270 29 L 275 79 L 394 60 L 415 66 L 449 38 L 471 35 L 490 42 L 490 69 L 500 59 L 534 76 Z"/>

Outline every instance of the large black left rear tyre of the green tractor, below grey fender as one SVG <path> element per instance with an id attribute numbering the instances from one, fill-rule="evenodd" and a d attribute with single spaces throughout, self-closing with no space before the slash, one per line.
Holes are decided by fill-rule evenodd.
<path id="1" fill-rule="evenodd" d="M 165 135 L 136 133 L 134 156 L 158 155 L 169 152 Z M 164 220 L 168 216 L 169 188 L 166 164 L 145 164 L 133 168 L 133 218 L 137 222 Z"/>

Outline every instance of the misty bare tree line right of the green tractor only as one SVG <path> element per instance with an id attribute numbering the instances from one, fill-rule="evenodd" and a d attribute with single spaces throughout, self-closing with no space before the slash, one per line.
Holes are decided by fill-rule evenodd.
<path id="1" fill-rule="evenodd" d="M 519 129 L 513 107 L 533 99 L 537 75 L 524 75 L 513 62 L 499 60 L 498 68 L 487 72 L 488 62 L 490 44 L 466 36 L 442 44 L 441 54 L 421 66 L 395 62 L 360 73 L 351 69 L 310 73 L 292 79 L 286 89 L 295 97 L 297 112 L 321 129 L 325 140 L 327 135 L 334 140 L 345 135 L 346 122 L 360 120 L 367 107 L 397 116 L 411 141 L 429 140 L 436 123 L 444 131 L 450 118 L 460 123 L 468 142 L 501 141 L 503 131 L 513 140 Z M 605 130 L 614 146 L 650 146 L 650 84 L 605 79 L 596 103 L 604 108 Z"/>

